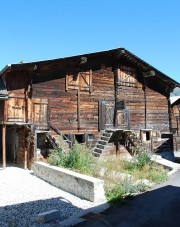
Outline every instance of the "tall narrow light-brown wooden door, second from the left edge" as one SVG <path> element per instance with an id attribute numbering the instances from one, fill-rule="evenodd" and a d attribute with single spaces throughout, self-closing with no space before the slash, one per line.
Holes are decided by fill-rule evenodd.
<path id="1" fill-rule="evenodd" d="M 33 122 L 36 129 L 48 129 L 48 99 L 33 99 Z"/>

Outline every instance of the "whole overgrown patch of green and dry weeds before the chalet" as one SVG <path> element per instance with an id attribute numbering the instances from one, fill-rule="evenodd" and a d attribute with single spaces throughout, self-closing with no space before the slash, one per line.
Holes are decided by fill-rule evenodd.
<path id="1" fill-rule="evenodd" d="M 150 185 L 143 179 L 157 184 L 168 178 L 167 170 L 152 162 L 144 151 L 131 162 L 118 158 L 102 160 L 94 158 L 85 145 L 77 142 L 69 152 L 63 152 L 61 147 L 53 150 L 48 162 L 104 180 L 106 197 L 111 205 L 124 204 L 133 194 L 147 190 Z"/>

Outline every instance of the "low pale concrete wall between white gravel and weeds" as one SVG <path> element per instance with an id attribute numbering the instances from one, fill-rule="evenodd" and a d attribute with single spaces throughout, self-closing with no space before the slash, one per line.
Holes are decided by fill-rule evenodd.
<path id="1" fill-rule="evenodd" d="M 103 181 L 42 162 L 33 164 L 34 174 L 77 197 L 95 203 L 106 202 Z"/>

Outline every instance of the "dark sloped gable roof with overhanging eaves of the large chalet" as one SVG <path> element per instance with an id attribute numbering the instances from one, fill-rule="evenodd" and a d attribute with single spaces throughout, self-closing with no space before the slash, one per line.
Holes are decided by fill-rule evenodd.
<path id="1" fill-rule="evenodd" d="M 6 66 L 3 70 L 1 70 L 0 75 L 3 74 L 5 71 L 15 71 L 15 70 L 22 70 L 22 69 L 28 69 L 33 70 L 34 66 L 36 67 L 43 67 L 43 66 L 50 66 L 50 65 L 57 65 L 58 63 L 62 62 L 71 62 L 72 64 L 77 63 L 80 61 L 81 58 L 85 57 L 87 58 L 87 61 L 89 59 L 95 59 L 99 57 L 111 57 L 114 60 L 118 60 L 120 58 L 126 59 L 134 64 L 136 64 L 139 68 L 141 68 L 142 71 L 147 72 L 153 70 L 155 72 L 156 77 L 159 80 L 162 80 L 167 85 L 170 85 L 172 87 L 180 87 L 180 84 L 170 78 L 169 76 L 165 75 L 158 69 L 154 68 L 147 62 L 143 61 L 136 55 L 132 54 L 130 51 L 126 50 L 125 48 L 117 48 L 112 50 L 106 50 L 101 52 L 95 52 L 95 53 L 88 53 L 88 54 L 81 54 L 77 56 L 71 56 L 71 57 L 64 57 L 64 58 L 58 58 L 58 59 L 52 59 L 52 60 L 45 60 L 45 61 L 36 61 L 36 62 L 29 62 L 29 63 L 19 63 L 19 64 L 11 64 Z"/>

